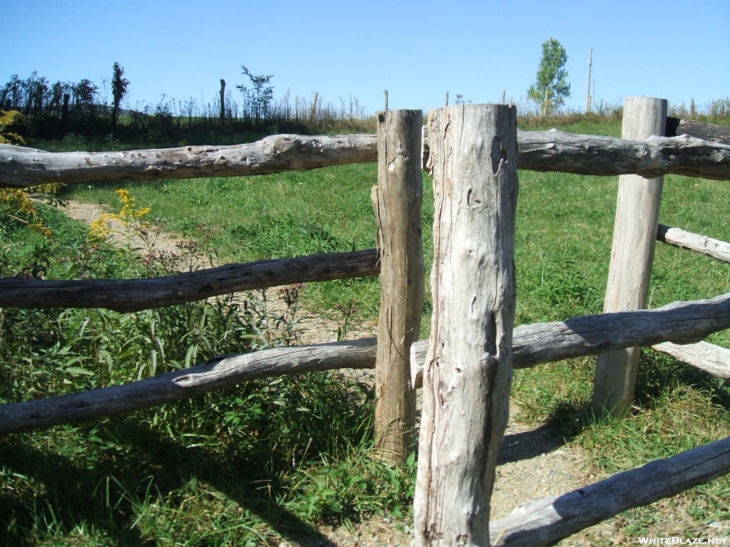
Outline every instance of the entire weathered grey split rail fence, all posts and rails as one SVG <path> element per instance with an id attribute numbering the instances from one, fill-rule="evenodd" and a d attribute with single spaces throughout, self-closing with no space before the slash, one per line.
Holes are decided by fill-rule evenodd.
<path id="1" fill-rule="evenodd" d="M 664 174 L 730 179 L 727 132 L 685 120 L 667 123 L 666 101 L 650 98 L 627 99 L 623 139 L 518 132 L 514 106 L 459 105 L 431 111 L 426 141 L 421 116 L 417 110 L 379 112 L 375 136 L 278 135 L 231 147 L 50 153 L 0 145 L 2 187 L 378 163 L 372 192 L 377 250 L 260 260 L 155 279 L 0 279 L 0 307 L 137 311 L 280 284 L 380 274 L 383 285 L 377 339 L 226 355 L 130 384 L 6 404 L 0 406 L 0 433 L 136 411 L 264 376 L 375 368 L 379 446 L 396 464 L 413 446 L 415 389 L 423 384 L 414 502 L 418 545 L 552 545 L 628 508 L 728 473 L 730 438 L 488 521 L 513 367 L 599 354 L 594 404 L 614 414 L 633 397 L 637 346 L 653 346 L 730 378 L 730 352 L 702 342 L 730 327 L 730 293 L 642 309 L 657 239 L 730 262 L 729 244 L 658 225 Z M 420 208 L 426 156 L 436 201 L 434 312 L 429 341 L 417 341 L 425 283 Z M 604 314 L 513 328 L 518 168 L 621 175 Z"/>

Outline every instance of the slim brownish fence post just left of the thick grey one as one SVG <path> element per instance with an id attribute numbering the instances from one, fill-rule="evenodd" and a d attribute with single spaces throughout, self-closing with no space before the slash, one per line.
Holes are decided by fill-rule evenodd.
<path id="1" fill-rule="evenodd" d="M 420 210 L 420 110 L 377 113 L 377 186 L 372 201 L 380 250 L 380 325 L 375 430 L 383 457 L 400 465 L 412 447 L 415 389 L 410 346 L 418 340 L 425 285 Z"/>

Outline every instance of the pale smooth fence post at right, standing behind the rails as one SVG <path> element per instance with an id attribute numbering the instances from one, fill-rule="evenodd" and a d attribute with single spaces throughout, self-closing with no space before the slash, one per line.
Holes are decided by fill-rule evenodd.
<path id="1" fill-rule="evenodd" d="M 666 99 L 627 97 L 622 139 L 663 136 Z M 651 265 L 659 223 L 664 177 L 621 175 L 613 227 L 611 265 L 604 312 L 643 309 L 649 294 Z M 620 416 L 631 408 L 639 366 L 639 347 L 599 355 L 593 385 L 593 411 Z"/>

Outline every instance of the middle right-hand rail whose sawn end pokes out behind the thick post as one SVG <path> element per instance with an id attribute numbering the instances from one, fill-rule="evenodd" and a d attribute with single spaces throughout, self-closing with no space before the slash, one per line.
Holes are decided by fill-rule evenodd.
<path id="1" fill-rule="evenodd" d="M 709 300 L 674 302 L 656 309 L 520 325 L 512 334 L 512 366 L 529 368 L 542 362 L 666 341 L 691 344 L 728 327 L 730 293 Z M 425 340 L 411 346 L 411 378 L 415 387 L 420 387 L 423 381 L 427 346 Z"/>

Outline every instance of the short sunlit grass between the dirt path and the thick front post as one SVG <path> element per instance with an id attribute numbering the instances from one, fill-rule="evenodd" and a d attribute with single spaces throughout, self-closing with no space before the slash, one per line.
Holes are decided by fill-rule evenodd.
<path id="1" fill-rule="evenodd" d="M 357 164 L 315 171 L 250 177 L 126 185 L 69 187 L 65 198 L 120 207 L 114 191 L 122 186 L 139 205 L 152 209 L 166 229 L 184 237 L 200 237 L 199 227 L 212 230 L 212 247 L 224 262 L 342 252 L 375 247 L 375 220 L 370 190 L 377 185 L 377 166 Z M 431 257 L 433 198 L 424 181 L 423 236 Z M 363 317 L 377 317 L 377 278 L 313 283 L 308 305 L 320 311 L 357 300 Z"/>

